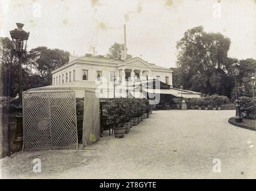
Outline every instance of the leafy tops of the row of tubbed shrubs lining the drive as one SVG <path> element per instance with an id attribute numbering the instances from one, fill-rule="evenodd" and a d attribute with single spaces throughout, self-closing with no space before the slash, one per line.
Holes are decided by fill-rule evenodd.
<path id="1" fill-rule="evenodd" d="M 113 98 L 108 101 L 107 123 L 112 127 L 122 127 L 131 118 L 137 118 L 150 111 L 149 101 L 146 98 Z"/>

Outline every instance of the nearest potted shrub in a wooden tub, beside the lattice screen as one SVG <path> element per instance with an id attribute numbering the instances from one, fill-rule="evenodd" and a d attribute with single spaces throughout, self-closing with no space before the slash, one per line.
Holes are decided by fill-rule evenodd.
<path id="1" fill-rule="evenodd" d="M 124 98 L 113 98 L 109 100 L 106 106 L 109 118 L 107 119 L 107 124 L 111 125 L 114 129 L 116 138 L 123 138 L 125 135 L 125 110 L 127 106 L 125 104 Z"/>

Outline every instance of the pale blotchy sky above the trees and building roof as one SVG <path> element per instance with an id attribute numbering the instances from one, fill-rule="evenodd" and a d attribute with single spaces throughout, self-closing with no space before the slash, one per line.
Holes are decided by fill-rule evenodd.
<path id="1" fill-rule="evenodd" d="M 1 0 L 0 36 L 15 23 L 30 32 L 28 50 L 59 48 L 83 56 L 106 55 L 115 42 L 128 54 L 175 67 L 176 43 L 184 32 L 203 26 L 231 39 L 228 56 L 256 59 L 256 0 Z"/>

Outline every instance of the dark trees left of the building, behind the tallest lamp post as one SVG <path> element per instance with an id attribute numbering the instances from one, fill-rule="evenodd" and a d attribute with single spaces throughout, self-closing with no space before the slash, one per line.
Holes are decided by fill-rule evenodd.
<path id="1" fill-rule="evenodd" d="M 37 47 L 22 57 L 23 90 L 52 84 L 52 70 L 68 63 L 70 53 L 59 49 Z M 19 65 L 16 54 L 11 54 L 9 38 L 0 38 L 1 78 L 3 95 L 18 93 Z"/>

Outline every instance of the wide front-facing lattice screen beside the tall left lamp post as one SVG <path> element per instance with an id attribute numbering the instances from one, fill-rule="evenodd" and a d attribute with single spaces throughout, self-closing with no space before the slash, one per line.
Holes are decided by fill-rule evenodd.
<path id="1" fill-rule="evenodd" d="M 77 148 L 73 91 L 23 93 L 24 150 Z"/>

